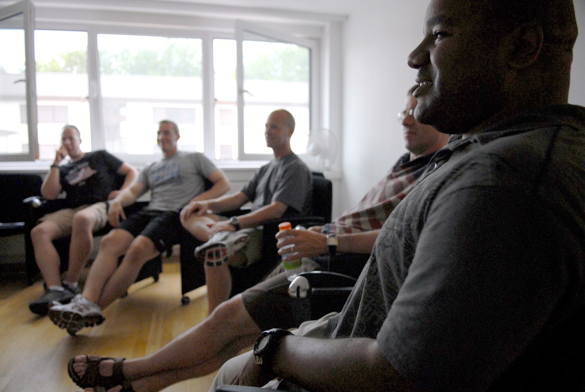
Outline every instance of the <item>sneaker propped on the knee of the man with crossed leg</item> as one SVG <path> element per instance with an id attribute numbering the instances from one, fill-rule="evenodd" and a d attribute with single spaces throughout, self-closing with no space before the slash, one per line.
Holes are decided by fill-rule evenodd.
<path id="1" fill-rule="evenodd" d="M 220 266 L 229 256 L 242 249 L 250 236 L 239 231 L 221 231 L 209 238 L 209 241 L 195 248 L 195 256 L 202 256 L 209 266 Z"/>

